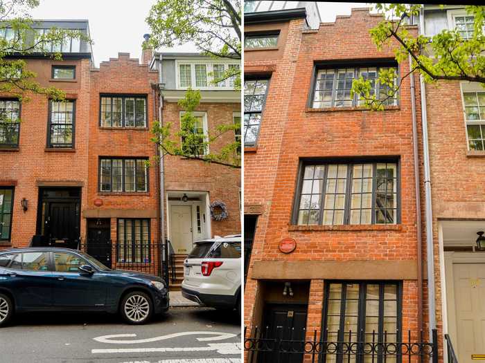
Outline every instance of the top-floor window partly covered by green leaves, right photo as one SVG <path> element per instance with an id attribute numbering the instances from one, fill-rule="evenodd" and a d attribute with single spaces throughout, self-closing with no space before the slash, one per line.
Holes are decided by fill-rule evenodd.
<path id="1" fill-rule="evenodd" d="M 387 84 L 378 82 L 379 72 L 390 68 L 392 67 L 319 69 L 315 79 L 312 107 L 323 109 L 362 104 L 363 100 L 358 95 L 351 95 L 352 82 L 359 77 L 371 82 L 371 95 L 376 95 L 385 105 L 396 105 L 398 104 L 397 94 Z"/>

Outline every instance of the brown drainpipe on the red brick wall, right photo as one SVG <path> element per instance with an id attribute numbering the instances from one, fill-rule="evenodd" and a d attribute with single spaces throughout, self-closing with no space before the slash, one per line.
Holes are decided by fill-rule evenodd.
<path id="1" fill-rule="evenodd" d="M 409 70 L 412 67 L 411 55 L 408 55 Z M 423 331 L 423 238 L 421 234 L 421 191 L 419 180 L 419 154 L 418 154 L 418 126 L 416 124 L 416 90 L 414 89 L 414 73 L 409 75 L 411 82 L 411 109 L 412 109 L 412 140 L 414 153 L 414 189 L 416 193 L 416 237 L 418 248 L 418 332 Z"/>

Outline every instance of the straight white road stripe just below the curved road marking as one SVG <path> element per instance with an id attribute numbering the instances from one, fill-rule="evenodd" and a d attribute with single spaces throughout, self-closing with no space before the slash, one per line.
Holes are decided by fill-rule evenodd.
<path id="1" fill-rule="evenodd" d="M 209 352 L 215 351 L 222 355 L 240 354 L 242 351 L 240 343 L 213 343 L 209 346 L 194 346 L 180 348 L 112 348 L 112 349 L 91 349 L 91 353 L 153 353 L 153 352 Z"/>

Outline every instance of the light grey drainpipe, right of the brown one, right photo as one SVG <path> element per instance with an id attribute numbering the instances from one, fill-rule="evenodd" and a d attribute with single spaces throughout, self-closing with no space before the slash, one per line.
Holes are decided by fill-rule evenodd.
<path id="1" fill-rule="evenodd" d="M 424 35 L 424 12 L 419 12 L 419 34 Z M 430 339 L 436 328 L 436 302 L 434 297 L 434 249 L 433 249 L 433 214 L 431 205 L 430 147 L 427 136 L 426 90 L 423 76 L 419 77 L 421 89 L 421 126 L 423 127 L 423 162 L 425 186 L 425 221 L 426 221 L 426 257 L 427 257 L 427 303 L 430 307 Z"/>

